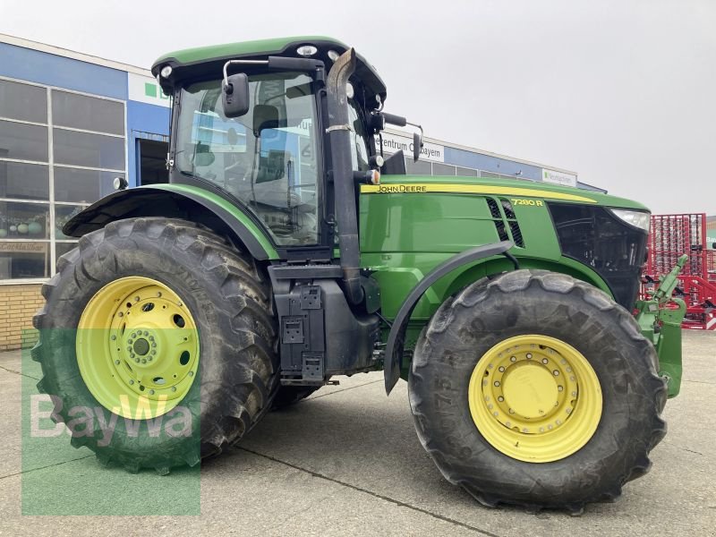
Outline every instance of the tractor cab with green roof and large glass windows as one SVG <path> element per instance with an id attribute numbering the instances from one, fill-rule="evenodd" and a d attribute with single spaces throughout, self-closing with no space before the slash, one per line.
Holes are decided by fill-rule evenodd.
<path id="1" fill-rule="evenodd" d="M 176 52 L 152 69 L 174 98 L 170 182 L 242 207 L 282 251 L 298 246 L 310 259 L 330 259 L 337 222 L 330 133 L 345 129 L 347 171 L 372 180 L 383 164 L 372 134 L 396 118 L 379 113 L 386 88 L 378 73 L 329 38 L 209 47 L 201 55 Z M 341 84 L 331 88 L 332 69 Z M 331 100 L 343 104 L 347 121 L 337 124 Z"/>

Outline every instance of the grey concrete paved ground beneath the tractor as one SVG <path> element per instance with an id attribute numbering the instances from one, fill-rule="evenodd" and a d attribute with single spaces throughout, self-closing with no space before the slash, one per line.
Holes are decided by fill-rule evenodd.
<path id="1" fill-rule="evenodd" d="M 684 332 L 684 370 L 652 471 L 616 502 L 570 516 L 482 507 L 446 482 L 415 436 L 405 382 L 387 398 L 382 373 L 268 414 L 200 473 L 158 476 L 103 468 L 67 437 L 39 449 L 23 441 L 22 389 L 27 404 L 39 371 L 4 353 L 0 534 L 716 535 L 716 333 Z M 46 516 L 28 514 L 38 505 Z M 81 516 L 91 512 L 169 514 Z"/>

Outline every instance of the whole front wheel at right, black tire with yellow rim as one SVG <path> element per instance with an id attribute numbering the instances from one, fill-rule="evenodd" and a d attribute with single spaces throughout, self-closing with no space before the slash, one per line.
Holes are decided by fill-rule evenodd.
<path id="1" fill-rule="evenodd" d="M 666 432 L 652 344 L 624 308 L 562 274 L 516 270 L 446 301 L 409 381 L 423 447 L 485 505 L 616 499 Z"/>

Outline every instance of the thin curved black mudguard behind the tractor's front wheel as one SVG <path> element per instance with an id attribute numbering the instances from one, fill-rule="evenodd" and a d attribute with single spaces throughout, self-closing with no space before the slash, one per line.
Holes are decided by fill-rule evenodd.
<path id="1" fill-rule="evenodd" d="M 507 251 L 515 244 L 512 241 L 503 241 L 501 243 L 484 244 L 470 250 L 463 251 L 440 263 L 436 268 L 422 278 L 417 286 L 405 298 L 405 302 L 397 312 L 396 319 L 388 334 L 388 344 L 386 345 L 384 374 L 386 383 L 386 394 L 390 394 L 390 390 L 396 385 L 397 379 L 400 378 L 400 368 L 403 361 L 403 350 L 405 346 L 405 330 L 408 326 L 410 316 L 421 299 L 422 295 L 437 282 L 441 277 L 456 268 L 476 260 L 482 260 L 494 255 L 507 255 Z M 508 259 L 515 260 L 512 255 L 507 255 Z M 513 261 L 515 262 L 515 261 Z"/>

